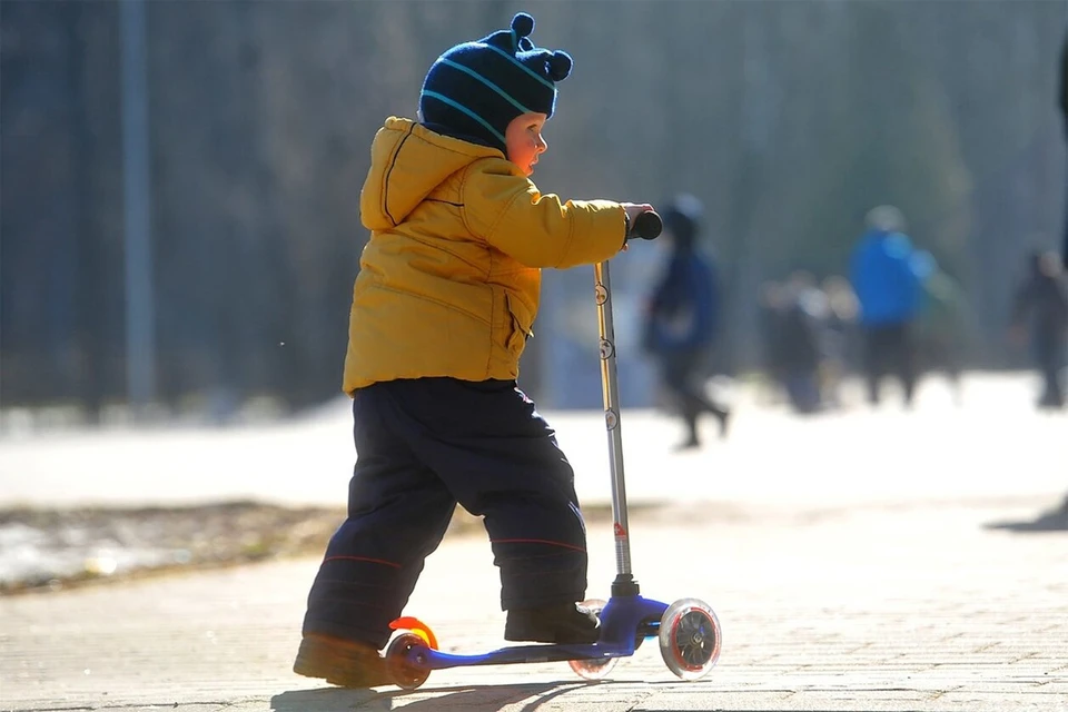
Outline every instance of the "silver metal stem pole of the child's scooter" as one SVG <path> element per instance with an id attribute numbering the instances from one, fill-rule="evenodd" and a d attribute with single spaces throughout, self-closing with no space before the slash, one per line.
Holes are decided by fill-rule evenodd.
<path id="1" fill-rule="evenodd" d="M 594 265 L 593 270 L 596 281 L 597 330 L 601 336 L 601 393 L 604 396 L 604 425 L 609 433 L 609 466 L 612 471 L 612 528 L 615 535 L 615 570 L 620 577 L 630 577 L 630 525 L 626 521 L 620 386 L 615 363 L 615 327 L 612 324 L 612 280 L 609 275 L 607 260 Z"/>

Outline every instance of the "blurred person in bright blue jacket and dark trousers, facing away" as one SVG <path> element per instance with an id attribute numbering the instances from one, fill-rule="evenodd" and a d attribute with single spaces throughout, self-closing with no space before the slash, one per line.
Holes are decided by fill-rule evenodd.
<path id="1" fill-rule="evenodd" d="M 879 403 L 882 377 L 893 373 L 901 382 L 906 405 L 911 405 L 917 380 L 912 332 L 922 305 L 927 260 L 904 234 L 899 209 L 873 208 L 867 224 L 868 230 L 853 249 L 850 281 L 860 305 L 868 400 Z"/>

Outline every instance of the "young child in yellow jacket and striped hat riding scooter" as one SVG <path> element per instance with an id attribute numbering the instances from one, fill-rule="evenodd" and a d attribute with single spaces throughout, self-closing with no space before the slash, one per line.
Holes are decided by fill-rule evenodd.
<path id="1" fill-rule="evenodd" d="M 528 179 L 572 67 L 535 48 L 533 29 L 520 13 L 449 49 L 424 81 L 422 123 L 389 118 L 375 136 L 344 377 L 358 456 L 348 518 L 308 595 L 298 674 L 392 682 L 378 651 L 457 502 L 484 516 L 506 640 L 597 639 L 596 616 L 576 606 L 586 542 L 574 473 L 515 379 L 541 268 L 609 259 L 652 208 L 562 202 Z"/>

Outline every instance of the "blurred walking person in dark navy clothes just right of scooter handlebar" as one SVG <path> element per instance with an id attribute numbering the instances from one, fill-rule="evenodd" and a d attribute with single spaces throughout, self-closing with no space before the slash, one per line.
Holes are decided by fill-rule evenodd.
<path id="1" fill-rule="evenodd" d="M 726 435 L 730 411 L 704 390 L 703 367 L 718 327 L 719 286 L 711 259 L 698 246 L 701 202 L 681 195 L 662 211 L 672 254 L 649 303 L 645 347 L 660 362 L 664 385 L 686 427 L 681 449 L 700 447 L 698 418 L 711 413 Z"/>

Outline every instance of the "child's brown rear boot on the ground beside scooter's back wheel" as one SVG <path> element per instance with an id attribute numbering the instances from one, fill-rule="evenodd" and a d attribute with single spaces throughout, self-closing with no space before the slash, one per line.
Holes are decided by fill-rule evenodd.
<path id="1" fill-rule="evenodd" d="M 393 684 L 386 661 L 374 646 L 316 633 L 306 634 L 300 641 L 293 672 L 342 688 Z"/>

